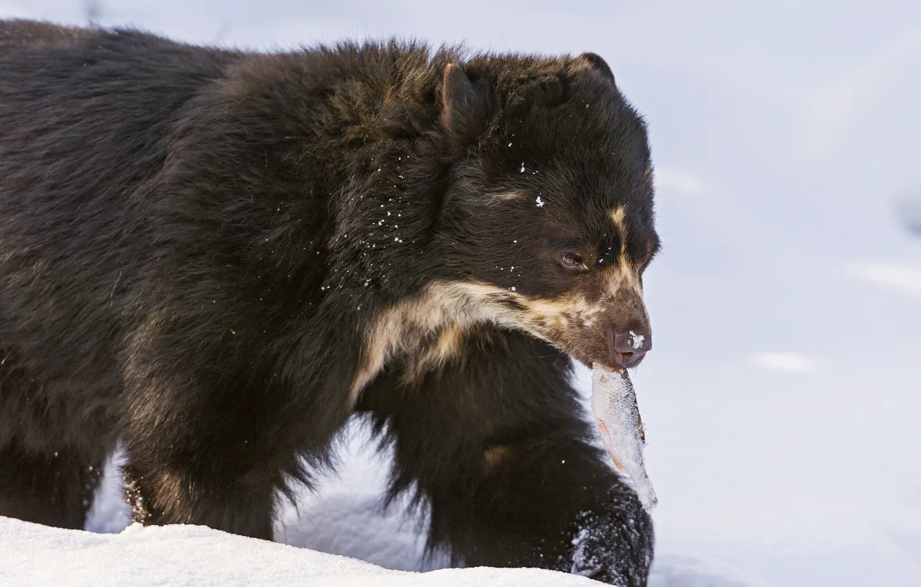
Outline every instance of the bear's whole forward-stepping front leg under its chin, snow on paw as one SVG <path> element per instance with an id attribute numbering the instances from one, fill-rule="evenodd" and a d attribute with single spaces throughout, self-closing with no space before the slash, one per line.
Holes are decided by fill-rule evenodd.
<path id="1" fill-rule="evenodd" d="M 382 375 L 359 408 L 386 425 L 391 490 L 428 501 L 429 547 L 456 564 L 646 585 L 652 522 L 589 443 L 569 367 L 538 340 L 491 329 L 414 383 Z"/>

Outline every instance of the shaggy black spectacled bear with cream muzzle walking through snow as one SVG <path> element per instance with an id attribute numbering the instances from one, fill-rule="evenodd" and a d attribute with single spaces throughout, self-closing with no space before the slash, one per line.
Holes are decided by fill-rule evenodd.
<path id="1" fill-rule="evenodd" d="M 638 363 L 646 126 L 596 54 L 0 23 L 0 514 L 272 538 L 346 420 L 459 565 L 645 585 L 573 361 Z M 644 340 L 634 348 L 630 331 Z"/>

